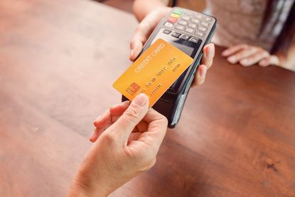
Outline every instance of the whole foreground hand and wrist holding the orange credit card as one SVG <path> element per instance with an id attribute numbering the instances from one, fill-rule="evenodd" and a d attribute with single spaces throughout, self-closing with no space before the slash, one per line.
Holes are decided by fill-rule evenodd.
<path id="1" fill-rule="evenodd" d="M 94 142 L 70 187 L 68 196 L 108 196 L 156 162 L 168 121 L 140 94 L 130 103 L 110 107 L 98 117 Z"/>

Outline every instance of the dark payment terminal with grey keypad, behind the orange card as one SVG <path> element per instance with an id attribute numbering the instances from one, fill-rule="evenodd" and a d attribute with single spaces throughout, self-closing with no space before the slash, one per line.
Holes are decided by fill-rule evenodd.
<path id="1" fill-rule="evenodd" d="M 193 58 L 193 63 L 169 87 L 152 108 L 166 116 L 168 127 L 178 123 L 184 102 L 195 77 L 195 71 L 203 55 L 203 47 L 210 42 L 215 32 L 216 19 L 213 16 L 196 11 L 173 7 L 171 12 L 161 20 L 142 50 L 149 48 L 151 43 L 162 38 Z M 141 52 L 141 53 L 142 53 Z M 122 100 L 127 100 L 122 97 Z"/>

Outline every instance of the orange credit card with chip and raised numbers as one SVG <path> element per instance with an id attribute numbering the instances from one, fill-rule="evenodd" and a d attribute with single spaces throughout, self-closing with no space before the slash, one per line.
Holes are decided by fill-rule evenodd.
<path id="1" fill-rule="evenodd" d="M 129 100 L 140 93 L 146 94 L 149 107 L 152 107 L 191 63 L 193 58 L 159 39 L 130 65 L 113 86 Z"/>

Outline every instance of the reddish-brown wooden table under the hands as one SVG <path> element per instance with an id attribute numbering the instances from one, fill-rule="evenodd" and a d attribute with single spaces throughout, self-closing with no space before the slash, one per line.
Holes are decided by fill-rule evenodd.
<path id="1" fill-rule="evenodd" d="M 94 1 L 0 1 L 0 196 L 65 196 L 135 28 Z M 295 196 L 295 73 L 221 50 L 156 166 L 113 196 Z"/>

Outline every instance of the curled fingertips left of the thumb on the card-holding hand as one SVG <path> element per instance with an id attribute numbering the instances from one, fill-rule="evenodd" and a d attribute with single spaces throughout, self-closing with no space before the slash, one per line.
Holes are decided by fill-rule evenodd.
<path id="1" fill-rule="evenodd" d="M 124 113 L 124 111 L 128 108 L 130 102 L 125 101 L 118 105 L 114 105 L 113 107 L 109 108 L 103 115 L 97 117 L 93 124 L 95 125 L 95 131 L 90 136 L 90 142 L 95 142 L 100 134 L 104 132 L 112 123 L 116 122 L 117 119 Z"/>

